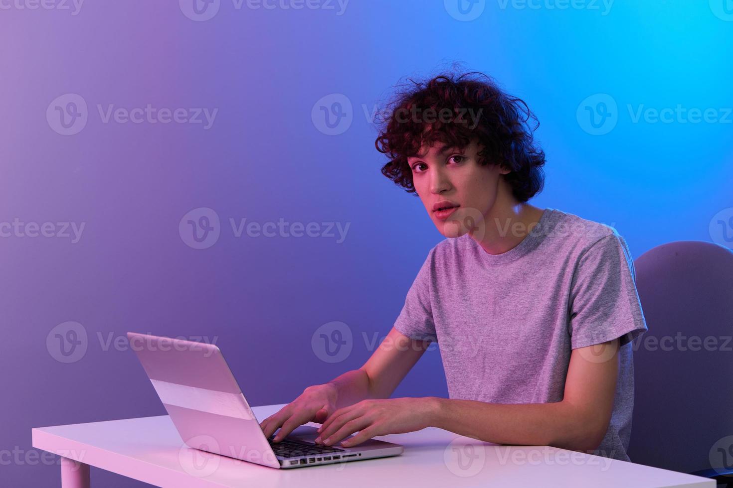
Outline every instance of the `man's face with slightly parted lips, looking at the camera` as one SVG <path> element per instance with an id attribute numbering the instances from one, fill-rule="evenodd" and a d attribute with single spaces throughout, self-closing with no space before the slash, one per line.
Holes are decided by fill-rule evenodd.
<path id="1" fill-rule="evenodd" d="M 496 203 L 501 174 L 509 170 L 498 165 L 479 165 L 477 153 L 482 149 L 476 141 L 461 149 L 435 143 L 421 148 L 419 156 L 409 157 L 415 191 L 422 200 L 432 222 L 443 236 L 463 236 L 474 226 L 485 225 L 485 217 Z M 454 209 L 435 210 L 435 206 Z"/>

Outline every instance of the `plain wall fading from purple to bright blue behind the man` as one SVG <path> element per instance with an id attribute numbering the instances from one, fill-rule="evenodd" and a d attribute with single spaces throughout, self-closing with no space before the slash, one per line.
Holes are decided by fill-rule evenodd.
<path id="1" fill-rule="evenodd" d="M 252 405 L 289 402 L 360 367 L 443 239 L 419 199 L 380 174 L 364 110 L 400 79 L 454 60 L 537 113 L 548 165 L 534 205 L 614 225 L 635 258 L 668 241 L 732 245 L 733 223 L 715 229 L 733 217 L 733 116 L 634 123 L 627 110 L 682 104 L 723 117 L 733 106 L 722 0 L 619 1 L 605 15 L 487 1 L 471 21 L 450 3 L 352 0 L 337 15 L 336 3 L 237 10 L 221 0 L 213 18 L 194 21 L 173 0 L 87 0 L 77 15 L 0 1 L 0 225 L 85 225 L 75 243 L 0 237 L 0 484 L 59 484 L 57 465 L 26 457 L 32 427 L 165 413 L 134 353 L 105 346 L 126 331 L 216 340 Z M 69 93 L 83 97 L 88 120 L 61 135 L 46 111 Z M 331 94 L 352 104 L 338 135 L 312 119 Z M 605 135 L 578 116 L 594 94 L 618 104 Z M 209 129 L 104 123 L 97 104 L 218 112 Z M 221 219 L 207 249 L 179 232 L 200 207 Z M 229 218 L 350 227 L 341 243 L 237 238 Z M 52 332 L 67 321 L 86 333 L 86 353 L 70 363 L 57 359 Z M 332 321 L 353 336 L 337 363 L 312 346 Z M 427 395 L 447 396 L 437 350 L 394 394 Z M 143 485 L 96 469 L 92 483 Z"/>

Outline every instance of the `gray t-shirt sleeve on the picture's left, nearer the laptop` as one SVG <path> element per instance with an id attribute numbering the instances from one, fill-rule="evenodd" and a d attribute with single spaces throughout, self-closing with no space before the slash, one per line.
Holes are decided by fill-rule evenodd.
<path id="1" fill-rule="evenodd" d="M 408 290 L 402 312 L 399 312 L 394 323 L 394 328 L 410 339 L 438 342 L 430 304 L 430 288 L 435 269 L 434 258 L 435 247 L 427 253 L 425 262 Z"/>

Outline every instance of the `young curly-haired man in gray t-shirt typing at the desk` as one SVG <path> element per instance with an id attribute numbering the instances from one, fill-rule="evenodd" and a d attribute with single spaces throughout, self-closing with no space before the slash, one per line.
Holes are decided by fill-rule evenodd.
<path id="1" fill-rule="evenodd" d="M 647 326 L 627 244 L 612 227 L 527 203 L 544 182 L 524 124 L 534 116 L 478 75 L 438 76 L 395 100 L 377 138 L 390 158 L 382 173 L 419 195 L 448 239 L 364 366 L 262 421 L 268 437 L 280 428 L 276 442 L 308 421 L 327 445 L 358 432 L 345 446 L 432 426 L 629 460 L 630 341 Z M 449 399 L 390 399 L 432 341 Z"/>

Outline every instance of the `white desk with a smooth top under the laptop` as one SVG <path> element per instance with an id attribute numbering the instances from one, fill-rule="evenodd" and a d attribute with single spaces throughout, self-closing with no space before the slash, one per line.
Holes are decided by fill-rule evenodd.
<path id="1" fill-rule="evenodd" d="M 283 405 L 254 407 L 259 419 Z M 312 424 L 317 425 L 317 424 Z M 168 416 L 32 430 L 33 447 L 62 459 L 62 487 L 88 488 L 89 466 L 159 487 L 700 487 L 715 481 L 547 446 L 496 446 L 442 429 L 380 436 L 397 457 L 279 470 L 183 445 Z"/>

